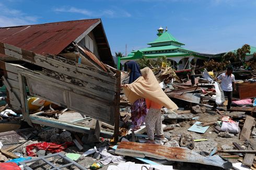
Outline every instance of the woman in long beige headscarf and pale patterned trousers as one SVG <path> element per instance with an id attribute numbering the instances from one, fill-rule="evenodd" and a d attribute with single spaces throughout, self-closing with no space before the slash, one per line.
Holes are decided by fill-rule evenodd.
<path id="1" fill-rule="evenodd" d="M 124 93 L 130 100 L 135 100 L 138 96 L 146 99 L 148 113 L 145 118 L 147 143 L 155 143 L 154 131 L 156 137 L 166 142 L 164 131 L 162 130 L 161 108 L 165 106 L 170 110 L 177 110 L 178 106 L 162 91 L 153 71 L 146 67 L 141 70 L 142 77 L 136 79 L 133 83 L 126 84 Z"/>

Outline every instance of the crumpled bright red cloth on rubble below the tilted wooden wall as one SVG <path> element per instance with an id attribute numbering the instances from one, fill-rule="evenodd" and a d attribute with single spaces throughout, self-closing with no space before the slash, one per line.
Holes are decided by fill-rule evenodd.
<path id="1" fill-rule="evenodd" d="M 34 153 L 32 151 L 34 148 L 37 148 L 38 150 L 50 151 L 51 153 L 57 153 L 65 150 L 69 145 L 73 145 L 73 142 L 65 142 L 63 144 L 48 143 L 48 142 L 34 143 L 34 144 L 27 145 L 26 151 L 28 156 L 36 156 L 37 153 Z"/>

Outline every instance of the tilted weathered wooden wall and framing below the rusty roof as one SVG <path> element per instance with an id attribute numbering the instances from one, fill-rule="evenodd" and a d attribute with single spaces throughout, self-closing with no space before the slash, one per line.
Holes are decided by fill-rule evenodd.
<path id="1" fill-rule="evenodd" d="M 121 83 L 119 70 L 115 70 L 113 75 L 59 56 L 35 54 L 5 43 L 0 43 L 0 53 L 44 68 L 42 72 L 36 72 L 20 65 L 0 63 L 0 68 L 4 70 L 7 81 L 8 73 L 11 72 L 8 69 L 13 68 L 15 71 L 11 74 L 18 76 L 16 95 L 19 96 L 20 92 L 20 102 L 18 103 L 21 103 L 22 115 L 30 126 L 33 126 L 32 123 L 34 123 L 57 126 L 77 132 L 88 132 L 88 129 L 77 127 L 75 124 L 29 115 L 26 84 L 34 96 L 70 108 L 107 124 L 115 125 L 114 138 L 116 141 L 118 140 Z M 49 72 L 59 76 L 52 76 Z M 48 88 L 52 89 L 49 94 L 46 90 Z M 110 135 L 111 133 L 104 134 Z"/>

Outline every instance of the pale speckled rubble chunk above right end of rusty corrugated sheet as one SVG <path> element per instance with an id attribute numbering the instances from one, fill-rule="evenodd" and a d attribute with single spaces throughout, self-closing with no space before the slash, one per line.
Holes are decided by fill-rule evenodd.
<path id="1" fill-rule="evenodd" d="M 207 141 L 195 142 L 195 147 L 193 151 L 201 153 L 204 152 L 206 155 L 209 155 L 212 150 L 217 147 L 218 143 L 213 139 L 208 139 Z"/>

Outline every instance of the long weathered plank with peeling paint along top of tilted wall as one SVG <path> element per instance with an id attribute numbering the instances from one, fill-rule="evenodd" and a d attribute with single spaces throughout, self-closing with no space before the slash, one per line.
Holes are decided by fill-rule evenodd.
<path id="1" fill-rule="evenodd" d="M 24 60 L 26 62 L 51 69 L 53 71 L 63 72 L 63 74 L 70 75 L 72 77 L 78 78 L 79 74 L 83 75 L 80 77 L 81 79 L 91 79 L 92 77 L 96 77 L 97 79 L 105 80 L 109 83 L 115 83 L 115 77 L 108 72 L 101 71 L 97 68 L 89 67 L 83 64 L 77 64 L 72 60 L 65 59 L 59 56 L 54 55 L 40 55 L 34 54 L 33 52 L 21 50 L 13 45 L 9 45 L 6 43 L 1 43 L 0 48 L 4 48 L 5 55 Z M 2 49 L 0 49 L 2 50 Z M 24 53 L 31 53 L 31 56 L 27 57 Z"/>

